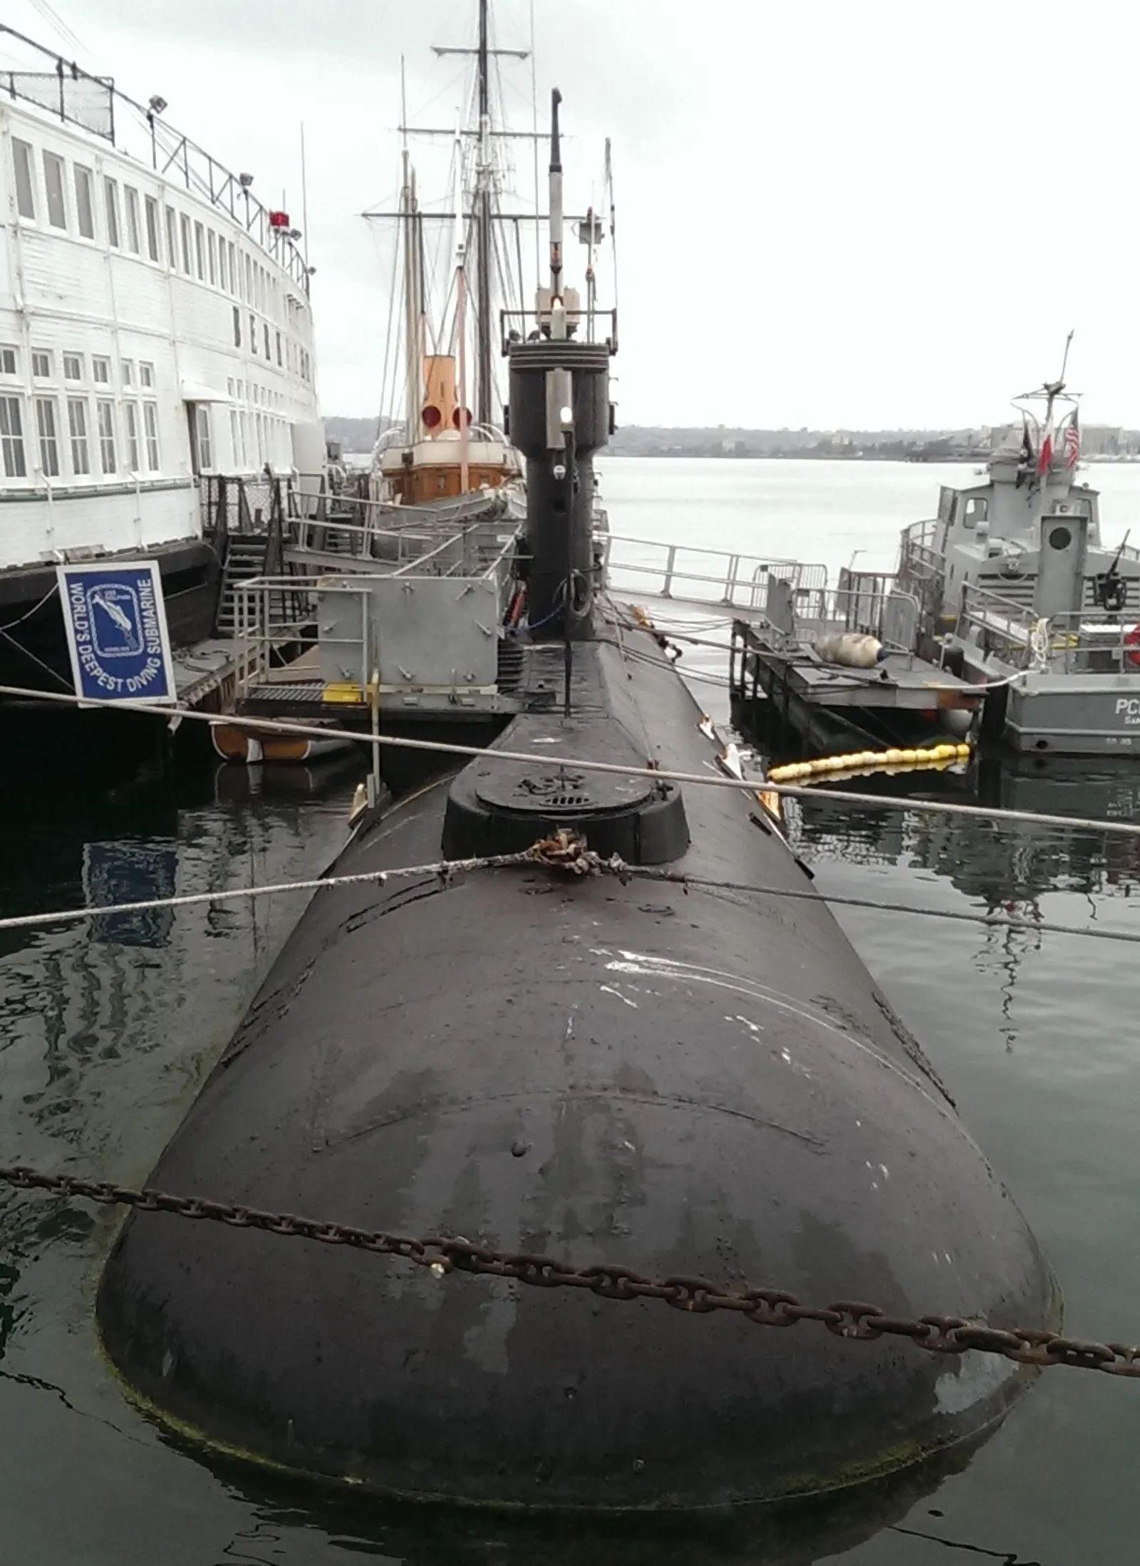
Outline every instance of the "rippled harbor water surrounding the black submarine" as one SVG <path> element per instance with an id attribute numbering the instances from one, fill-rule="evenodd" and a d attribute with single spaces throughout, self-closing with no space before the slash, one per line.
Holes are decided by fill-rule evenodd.
<path id="1" fill-rule="evenodd" d="M 797 556 L 833 572 L 857 550 L 858 565 L 889 568 L 899 528 L 933 512 L 938 482 L 961 484 L 969 473 L 744 460 L 606 459 L 600 468 L 619 536 Z M 1140 523 L 1140 467 L 1090 471 L 1115 543 Z M 694 691 L 722 720 L 719 655 L 692 648 L 683 667 L 706 677 Z M 354 761 L 276 772 L 204 763 L 177 778 L 160 766 L 103 778 L 86 775 L 80 756 L 50 756 L 41 749 L 28 769 L 9 755 L 0 781 L 0 916 L 319 874 L 345 841 L 359 775 Z M 930 796 L 952 789 L 946 778 L 910 786 Z M 1023 810 L 1140 822 L 1140 766 L 1127 763 L 1030 760 L 991 769 L 987 791 Z M 824 893 L 1140 933 L 1140 839 L 852 810 L 824 796 L 791 810 L 789 832 Z M 0 1162 L 144 1181 L 302 907 L 302 896 L 276 894 L 0 932 Z M 1065 1292 L 1066 1328 L 1140 1339 L 1135 947 L 897 911 L 836 913 L 1029 1218 Z M 1135 1558 L 1140 1384 L 1071 1369 L 1041 1375 L 957 1472 L 919 1474 L 908 1488 L 868 1496 L 860 1519 L 832 1533 L 819 1524 L 827 1508 L 814 1503 L 814 1519 L 806 1508 L 786 1524 L 761 1513 L 717 1519 L 720 1532 L 684 1546 L 650 1522 L 587 1543 L 565 1519 L 457 1521 L 385 1508 L 210 1456 L 138 1409 L 100 1356 L 94 1287 L 117 1223 L 116 1212 L 80 1201 L 0 1190 L 3 1561 L 316 1566 L 363 1555 L 415 1566 L 611 1558 L 1124 1566 Z M 293 1243 L 298 1267 L 321 1261 L 307 1242 L 251 1240 Z M 927 1306 L 940 1311 L 936 1298 Z M 695 1315 L 691 1330 L 698 1355 L 719 1319 Z"/>

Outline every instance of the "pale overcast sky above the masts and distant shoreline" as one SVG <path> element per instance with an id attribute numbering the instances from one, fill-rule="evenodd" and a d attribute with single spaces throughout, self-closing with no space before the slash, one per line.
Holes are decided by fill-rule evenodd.
<path id="1" fill-rule="evenodd" d="M 298 224 L 304 119 L 321 401 L 374 413 L 390 249 L 359 213 L 396 196 L 401 53 L 409 114 L 454 122 L 462 63 L 429 45 L 473 41 L 474 0 L 53 9 L 80 64 L 161 92 L 263 200 L 287 186 Z M 529 0 L 493 13 L 498 41 L 526 47 Z M 63 47 L 38 0 L 5 16 Z M 622 423 L 999 420 L 1076 327 L 1085 418 L 1140 428 L 1140 8 L 534 0 L 534 16 L 572 205 L 614 141 Z M 529 64 L 503 75 L 528 128 Z"/>

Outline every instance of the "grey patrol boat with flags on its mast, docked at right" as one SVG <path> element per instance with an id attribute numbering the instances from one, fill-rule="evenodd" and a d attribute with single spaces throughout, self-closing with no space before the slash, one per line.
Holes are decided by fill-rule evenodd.
<path id="1" fill-rule="evenodd" d="M 1101 542 L 1063 371 L 1013 406 L 1021 443 L 904 529 L 919 650 L 990 687 L 983 725 L 1016 750 L 1140 755 L 1140 551 Z"/>

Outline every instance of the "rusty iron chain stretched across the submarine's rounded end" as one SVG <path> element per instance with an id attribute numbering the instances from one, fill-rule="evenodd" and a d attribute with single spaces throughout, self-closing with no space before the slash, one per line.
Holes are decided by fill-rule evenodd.
<path id="1" fill-rule="evenodd" d="M 979 1351 L 1001 1355 L 1040 1370 L 1071 1366 L 1077 1370 L 1140 1378 L 1140 1345 L 1066 1337 L 1046 1328 L 1004 1330 L 961 1315 L 891 1315 L 864 1300 L 835 1300 L 825 1306 L 805 1304 L 786 1289 L 730 1290 L 708 1278 L 683 1275 L 645 1278 L 628 1267 L 604 1264 L 570 1267 L 553 1256 L 495 1250 L 489 1245 L 474 1245 L 462 1236 L 390 1234 L 385 1229 L 362 1229 L 349 1223 L 304 1218 L 294 1212 L 266 1212 L 241 1203 L 175 1196 L 171 1192 L 150 1189 L 133 1190 L 111 1181 L 80 1179 L 75 1174 L 45 1174 L 25 1165 L 0 1167 L 0 1184 L 17 1190 L 81 1196 L 85 1201 L 132 1207 L 135 1212 L 166 1212 L 179 1218 L 225 1223 L 235 1229 L 260 1229 L 263 1234 L 316 1240 L 321 1245 L 349 1245 L 379 1256 L 401 1256 L 417 1267 L 426 1267 L 437 1278 L 465 1272 L 482 1278 L 509 1278 L 537 1289 L 586 1289 L 601 1300 L 658 1300 L 694 1315 L 727 1311 L 753 1326 L 788 1328 L 814 1322 L 836 1337 L 853 1342 L 905 1337 L 927 1353 Z"/>

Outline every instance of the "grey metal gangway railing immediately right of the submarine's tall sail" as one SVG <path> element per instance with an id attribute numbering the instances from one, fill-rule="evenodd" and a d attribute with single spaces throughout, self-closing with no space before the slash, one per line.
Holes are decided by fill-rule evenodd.
<path id="1" fill-rule="evenodd" d="M 822 564 L 659 543 L 620 532 L 606 532 L 597 542 L 603 545 L 609 586 L 619 592 L 763 612 L 772 576 L 789 581 L 795 590 L 827 586 Z"/>

